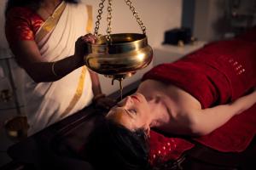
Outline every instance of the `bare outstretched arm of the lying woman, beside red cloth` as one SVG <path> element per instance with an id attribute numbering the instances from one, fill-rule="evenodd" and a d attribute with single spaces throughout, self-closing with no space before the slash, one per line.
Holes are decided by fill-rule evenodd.
<path id="1" fill-rule="evenodd" d="M 228 105 L 218 105 L 204 110 L 194 110 L 191 115 L 191 132 L 197 135 L 206 135 L 228 122 L 232 116 L 236 116 L 256 103 L 256 91 L 252 94 L 236 99 Z"/>

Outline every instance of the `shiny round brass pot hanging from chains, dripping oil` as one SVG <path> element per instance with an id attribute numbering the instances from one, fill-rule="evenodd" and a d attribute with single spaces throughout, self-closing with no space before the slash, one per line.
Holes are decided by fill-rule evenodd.
<path id="1" fill-rule="evenodd" d="M 153 59 L 153 50 L 145 34 L 111 34 L 108 42 L 105 36 L 90 44 L 90 54 L 84 57 L 90 70 L 113 79 L 130 77 L 143 69 Z"/>

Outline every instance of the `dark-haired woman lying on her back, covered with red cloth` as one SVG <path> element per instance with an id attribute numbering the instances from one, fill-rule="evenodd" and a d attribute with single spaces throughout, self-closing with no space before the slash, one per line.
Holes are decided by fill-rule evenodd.
<path id="1" fill-rule="evenodd" d="M 239 48 L 237 48 L 239 47 Z M 151 128 L 201 136 L 256 103 L 256 42 L 212 42 L 154 67 L 137 92 L 115 105 L 85 146 L 96 169 L 151 169 Z"/>

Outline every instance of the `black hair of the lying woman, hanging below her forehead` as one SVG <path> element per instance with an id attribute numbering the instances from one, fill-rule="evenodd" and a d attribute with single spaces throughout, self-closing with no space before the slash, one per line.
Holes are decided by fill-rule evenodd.
<path id="1" fill-rule="evenodd" d="M 148 137 L 143 129 L 131 132 L 105 120 L 90 134 L 85 155 L 96 170 L 149 170 Z"/>

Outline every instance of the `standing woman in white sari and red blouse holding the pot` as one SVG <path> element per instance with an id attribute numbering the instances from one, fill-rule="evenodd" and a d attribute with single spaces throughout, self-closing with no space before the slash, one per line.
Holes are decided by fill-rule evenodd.
<path id="1" fill-rule="evenodd" d="M 8 1 L 5 32 L 20 66 L 29 135 L 92 101 L 107 108 L 114 104 L 102 94 L 96 73 L 84 65 L 84 47 L 96 41 L 88 34 L 91 12 L 76 0 Z"/>

